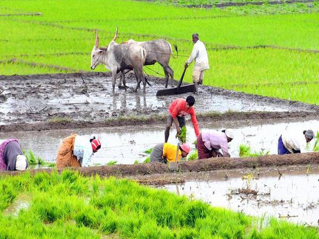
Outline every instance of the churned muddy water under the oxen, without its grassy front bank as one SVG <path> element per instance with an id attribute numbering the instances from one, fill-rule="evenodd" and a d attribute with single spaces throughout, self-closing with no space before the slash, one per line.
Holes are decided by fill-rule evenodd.
<path id="1" fill-rule="evenodd" d="M 61 77 L 61 76 L 60 76 Z M 54 117 L 69 117 L 72 120 L 102 121 L 119 115 L 148 115 L 167 112 L 174 98 L 189 94 L 156 97 L 156 91 L 164 88 L 164 80 L 151 80 L 146 93 L 131 92 L 135 79 L 128 79 L 128 91 L 111 91 L 111 78 L 98 76 L 50 76 L 26 77 L 21 80 L 3 79 L 0 91 L 5 100 L 0 104 L 0 124 L 32 123 Z M 196 98 L 197 112 L 231 111 L 300 111 L 305 107 L 262 97 L 249 97 L 228 91 L 215 92 L 213 88 L 201 87 Z M 193 94 L 192 94 L 193 95 Z"/>

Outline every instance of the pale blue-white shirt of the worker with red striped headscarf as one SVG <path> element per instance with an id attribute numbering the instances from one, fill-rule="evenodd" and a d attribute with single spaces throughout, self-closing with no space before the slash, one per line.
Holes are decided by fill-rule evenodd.
<path id="1" fill-rule="evenodd" d="M 73 154 L 77 157 L 82 167 L 90 166 L 93 155 L 91 142 L 87 138 L 77 135 L 74 139 Z"/>

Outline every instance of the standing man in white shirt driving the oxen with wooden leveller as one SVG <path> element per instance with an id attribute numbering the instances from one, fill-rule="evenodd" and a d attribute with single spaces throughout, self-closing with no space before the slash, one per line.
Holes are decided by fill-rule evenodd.
<path id="1" fill-rule="evenodd" d="M 188 60 L 185 63 L 185 68 L 188 67 L 190 63 L 195 60 L 194 69 L 193 69 L 193 83 L 195 85 L 195 94 L 198 94 L 198 84 L 203 84 L 204 80 L 204 70 L 209 69 L 208 64 L 208 55 L 206 47 L 202 41 L 199 40 L 197 33 L 192 35 L 194 47 L 192 54 L 189 56 Z"/>

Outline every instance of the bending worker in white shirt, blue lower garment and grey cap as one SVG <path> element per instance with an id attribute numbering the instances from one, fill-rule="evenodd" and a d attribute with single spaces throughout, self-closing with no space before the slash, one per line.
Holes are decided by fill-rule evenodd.
<path id="1" fill-rule="evenodd" d="M 307 143 L 315 137 L 311 129 L 301 132 L 285 131 L 278 139 L 278 154 L 306 153 Z"/>

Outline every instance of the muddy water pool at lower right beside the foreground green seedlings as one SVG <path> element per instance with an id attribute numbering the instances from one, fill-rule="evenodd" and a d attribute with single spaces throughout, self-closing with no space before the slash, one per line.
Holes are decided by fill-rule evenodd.
<path id="1" fill-rule="evenodd" d="M 170 192 L 202 199 L 212 206 L 259 217 L 276 217 L 300 224 L 318 226 L 319 219 L 319 169 L 318 166 L 265 173 L 256 179 L 257 172 L 248 174 L 234 171 L 211 172 L 207 181 L 192 180 L 182 185 L 164 186 Z M 226 176 L 225 176 L 226 175 Z M 243 178 L 244 177 L 244 178 Z M 257 177 L 258 178 L 258 177 Z M 232 194 L 232 190 L 249 188 L 258 191 L 256 196 Z M 288 216 L 289 215 L 289 216 Z"/>

